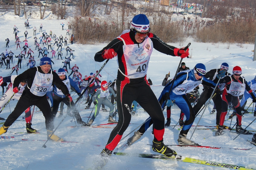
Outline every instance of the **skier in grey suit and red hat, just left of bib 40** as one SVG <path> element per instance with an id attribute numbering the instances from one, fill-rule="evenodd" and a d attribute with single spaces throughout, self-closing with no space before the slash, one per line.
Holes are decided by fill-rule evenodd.
<path id="1" fill-rule="evenodd" d="M 116 94 L 114 93 L 113 89 L 108 88 L 108 82 L 104 80 L 101 82 L 101 88 L 97 90 L 97 92 L 92 96 L 92 101 L 93 101 L 93 104 L 95 105 L 95 113 L 94 115 L 92 115 L 91 120 L 88 122 L 89 126 L 92 124 L 96 116 L 99 114 L 101 104 L 104 104 L 110 109 L 109 116 L 108 116 L 108 123 L 117 123 L 113 119 L 114 106 L 107 99 L 108 92 L 112 93 L 114 95 L 114 98 L 116 98 Z"/>

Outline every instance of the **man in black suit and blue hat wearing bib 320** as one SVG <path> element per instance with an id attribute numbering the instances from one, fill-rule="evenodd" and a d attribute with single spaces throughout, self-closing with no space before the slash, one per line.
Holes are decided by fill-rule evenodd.
<path id="1" fill-rule="evenodd" d="M 4 122 L 4 125 L 0 128 L 0 135 L 6 133 L 7 129 L 12 125 L 12 123 L 15 122 L 15 120 L 28 107 L 35 105 L 42 111 L 45 117 L 47 138 L 54 141 L 63 141 L 62 138 L 52 134 L 54 129 L 54 119 L 50 104 L 46 98 L 46 93 L 49 91 L 52 85 L 56 85 L 59 89 L 61 89 L 69 102 L 72 101 L 72 97 L 68 92 L 67 86 L 59 78 L 58 74 L 51 70 L 51 59 L 49 57 L 41 58 L 40 66 L 28 69 L 17 76 L 13 82 L 13 92 L 19 92 L 19 84 L 25 79 L 28 79 L 28 83 L 25 87 L 23 95 L 20 97 L 20 100 L 18 101 L 13 112 Z"/>

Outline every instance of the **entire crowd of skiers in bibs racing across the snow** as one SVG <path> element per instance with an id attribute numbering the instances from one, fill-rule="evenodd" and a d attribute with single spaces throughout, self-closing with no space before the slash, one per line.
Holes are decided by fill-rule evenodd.
<path id="1" fill-rule="evenodd" d="M 63 26 L 64 25 L 62 25 L 62 28 Z M 43 32 L 42 29 L 40 30 L 41 32 Z M 52 33 L 50 34 L 50 36 L 48 36 L 47 33 L 44 32 L 41 36 L 42 38 L 39 38 L 39 44 L 48 44 L 48 49 L 46 47 L 41 49 L 38 46 L 38 51 L 41 49 L 41 51 L 39 51 L 38 57 L 40 57 L 40 54 L 42 54 L 43 56 L 43 58 L 40 59 L 40 66 L 35 67 L 36 63 L 33 62 L 34 58 L 31 56 L 31 53 L 34 52 L 29 48 L 27 58 L 28 56 L 30 56 L 28 62 L 28 66 L 30 68 L 24 71 L 19 76 L 15 76 L 15 78 L 10 76 L 0 78 L 1 85 L 5 82 L 12 83 L 11 94 L 22 93 L 23 91 L 26 92 L 25 95 L 22 95 L 20 97 L 22 100 L 19 100 L 19 98 L 17 98 L 17 100 L 19 100 L 17 106 L 15 107 L 11 115 L 8 116 L 4 125 L 1 127 L 0 134 L 7 132 L 7 129 L 22 114 L 23 111 L 27 110 L 32 105 L 36 105 L 37 107 L 39 107 L 39 109 L 41 109 L 44 114 L 48 138 L 54 141 L 63 141 L 64 139 L 52 133 L 52 130 L 54 128 L 53 121 L 57 114 L 59 104 L 61 102 L 65 103 L 68 106 L 72 114 L 76 117 L 77 122 L 82 126 L 92 125 L 93 121 L 99 114 L 100 106 L 102 106 L 102 109 L 105 109 L 105 106 L 107 106 L 110 109 L 108 123 L 117 123 L 113 119 L 113 115 L 115 115 L 117 111 L 119 120 L 116 128 L 113 129 L 113 131 L 111 132 L 105 148 L 100 153 L 102 158 L 106 158 L 111 156 L 113 150 L 117 146 L 118 142 L 121 140 L 124 131 L 129 126 L 131 116 L 133 114 L 132 108 L 134 108 L 132 107 L 132 103 L 135 103 L 135 105 L 137 106 L 136 103 L 138 102 L 140 106 L 145 109 L 150 117 L 145 121 L 145 123 L 140 127 L 139 130 L 134 132 L 134 135 L 127 140 L 127 143 L 131 145 L 135 141 L 140 139 L 140 137 L 142 137 L 142 135 L 150 127 L 150 125 L 154 123 L 154 139 L 152 142 L 153 151 L 159 152 L 169 158 L 175 158 L 177 153 L 171 148 L 164 145 L 163 142 L 164 128 L 170 126 L 171 122 L 171 107 L 173 106 L 173 104 L 175 104 L 181 110 L 179 123 L 183 127 L 177 137 L 179 145 L 198 146 L 199 144 L 187 138 L 187 134 L 195 120 L 196 115 L 200 112 L 199 110 L 203 107 L 203 105 L 206 104 L 209 99 L 212 99 L 215 104 L 215 108 L 213 109 L 212 113 L 215 112 L 215 109 L 217 111 L 216 127 L 218 130 L 216 131 L 215 136 L 221 135 L 223 129 L 226 128 L 223 123 L 229 105 L 232 105 L 235 110 L 234 114 L 236 114 L 236 132 L 249 134 L 248 130 L 242 128 L 241 104 L 244 104 L 245 101 L 249 98 L 252 99 L 252 102 L 256 102 L 256 76 L 254 79 L 247 82 L 245 78 L 241 76 L 242 69 L 239 66 L 235 66 L 232 71 L 228 72 L 228 63 L 221 63 L 220 67 L 206 72 L 206 67 L 203 63 L 197 63 L 195 66 L 192 66 L 192 69 L 189 69 L 183 62 L 181 63 L 180 68 L 177 70 L 178 73 L 171 80 L 168 80 L 168 78 L 170 77 L 169 73 L 165 75 L 162 84 L 164 86 L 163 91 L 161 92 L 160 97 L 158 99 L 156 98 L 155 94 L 150 88 L 152 82 L 151 80 L 147 80 L 146 77 L 148 70 L 147 63 L 149 62 L 153 48 L 156 48 L 159 52 L 167 55 L 180 56 L 182 60 L 182 58 L 188 57 L 189 46 L 185 48 L 176 48 L 167 45 L 166 43 L 161 41 L 155 34 L 150 32 L 149 21 L 146 15 L 136 15 L 131 21 L 130 30 L 124 31 L 118 38 L 111 41 L 106 47 L 104 47 L 102 50 L 95 54 L 94 59 L 97 62 L 103 62 L 106 59 L 108 60 L 117 57 L 119 68 L 117 78 L 114 82 L 107 82 L 105 80 L 101 81 L 101 75 L 97 71 L 96 73 L 90 73 L 89 76 L 86 75 L 83 78 L 82 74 L 78 71 L 79 67 L 76 64 L 72 68 L 70 68 L 70 62 L 72 61 L 70 57 L 72 55 L 72 59 L 74 59 L 74 55 L 72 49 L 70 49 L 69 47 L 66 48 L 66 52 L 67 55 L 68 52 L 70 52 L 70 55 L 69 57 L 65 57 L 65 59 L 67 60 L 62 62 L 63 68 L 60 68 L 58 71 L 53 71 L 52 64 L 54 63 L 51 60 L 51 56 L 47 57 L 47 55 L 49 54 L 47 50 L 51 49 L 52 58 L 53 55 L 55 58 L 56 52 L 51 47 L 52 37 L 53 40 L 55 40 L 53 46 L 55 44 L 60 44 L 60 46 L 58 45 L 58 49 L 60 48 L 60 51 L 57 54 L 58 59 L 59 57 L 62 59 L 63 54 L 61 49 L 63 43 L 63 36 L 61 35 L 58 39 L 55 34 L 53 34 L 52 36 L 51 35 Z M 19 44 L 19 37 L 15 38 L 16 44 Z M 36 45 L 37 39 L 36 37 L 34 37 L 34 39 Z M 24 42 L 26 43 L 25 40 Z M 8 44 L 6 44 L 6 46 L 7 45 Z M 25 58 L 28 48 L 25 46 L 22 50 L 25 52 L 25 54 L 22 53 L 18 56 L 15 56 L 18 57 L 19 60 L 21 60 L 22 57 Z M 143 54 L 143 56 L 137 54 L 136 52 L 131 52 L 137 51 L 140 48 L 145 51 L 145 54 Z M 4 63 L 5 57 L 10 56 L 10 52 L 8 52 L 7 50 L 5 54 L 2 53 L 1 57 L 3 58 L 2 60 Z M 134 57 L 131 57 L 130 55 L 134 55 Z M 9 67 L 10 60 L 11 57 L 9 57 Z M 16 66 L 18 67 L 20 63 L 21 62 L 19 62 Z M 5 64 L 7 65 L 7 63 Z M 68 69 L 71 70 L 71 73 L 69 75 L 67 75 Z M 47 86 L 47 88 L 45 88 L 45 85 L 40 85 L 38 80 L 35 78 L 35 76 L 45 78 L 46 75 L 51 76 L 51 81 L 48 82 L 49 86 Z M 70 76 L 72 76 L 72 78 L 70 78 Z M 31 79 L 31 81 L 28 81 L 28 79 Z M 55 83 L 51 88 L 52 82 Z M 27 84 L 27 86 L 24 84 Z M 198 85 L 200 84 L 203 85 L 204 89 L 200 97 L 198 97 L 199 95 L 197 91 Z M 20 88 L 18 88 L 19 86 Z M 22 89 L 21 86 L 25 86 L 24 89 Z M 78 94 L 79 98 L 82 98 L 82 93 L 84 93 L 86 103 L 88 103 L 85 109 L 90 108 L 92 103 L 94 104 L 95 113 L 88 122 L 88 124 L 82 121 L 79 112 L 76 109 L 75 104 L 72 100 L 72 97 L 70 96 L 69 90 L 72 88 Z M 86 91 L 83 92 L 84 90 Z M 54 93 L 53 97 L 51 94 L 46 94 L 48 91 Z M 191 92 L 195 92 L 196 100 L 189 100 L 188 94 L 190 94 Z M 242 95 L 243 97 L 241 98 L 242 101 L 240 104 L 239 96 Z M 50 105 L 48 107 L 48 104 L 46 104 L 48 103 L 48 101 L 46 100 L 46 96 L 48 96 L 49 98 L 53 98 L 52 107 Z M 111 101 L 108 100 L 108 96 L 111 96 Z M 40 100 L 40 102 L 30 101 L 30 98 L 37 98 L 38 100 Z M 117 110 L 114 110 L 114 101 L 116 101 Z M 194 107 L 191 105 L 191 103 L 195 103 Z M 43 106 L 45 105 L 47 105 L 47 107 L 43 108 Z M 167 122 L 164 124 L 163 110 L 165 106 L 167 106 Z M 26 116 L 29 117 L 29 110 L 27 110 L 26 114 Z M 60 112 L 60 116 L 62 115 L 63 112 Z M 256 116 L 256 112 L 254 112 L 254 116 Z M 183 121 L 184 119 L 185 121 Z M 31 128 L 31 121 L 28 119 L 28 121 L 26 120 L 26 122 L 27 131 L 29 133 L 35 132 L 36 130 Z M 256 142 L 256 134 L 253 136 L 252 141 Z M 99 166 L 104 165 L 100 164 Z"/>

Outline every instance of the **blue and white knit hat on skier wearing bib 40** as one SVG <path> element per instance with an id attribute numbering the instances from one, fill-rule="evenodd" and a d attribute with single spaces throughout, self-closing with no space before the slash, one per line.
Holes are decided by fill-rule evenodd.
<path id="1" fill-rule="evenodd" d="M 150 31 L 149 20 L 145 14 L 135 15 L 130 23 L 130 29 L 139 33 L 148 33 Z"/>

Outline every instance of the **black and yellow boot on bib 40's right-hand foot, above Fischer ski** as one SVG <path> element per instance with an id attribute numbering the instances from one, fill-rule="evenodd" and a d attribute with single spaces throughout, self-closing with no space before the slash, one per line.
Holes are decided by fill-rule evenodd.
<path id="1" fill-rule="evenodd" d="M 161 153 L 168 158 L 176 158 L 176 156 L 177 156 L 177 153 L 174 150 L 172 150 L 164 145 L 163 140 L 157 141 L 156 139 L 154 139 L 153 145 L 152 145 L 152 150 L 154 152 Z"/>

